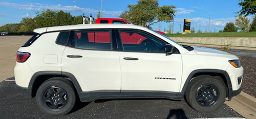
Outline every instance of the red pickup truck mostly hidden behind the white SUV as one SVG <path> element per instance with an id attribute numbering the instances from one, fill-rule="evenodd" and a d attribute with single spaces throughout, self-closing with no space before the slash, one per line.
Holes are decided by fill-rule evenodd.
<path id="1" fill-rule="evenodd" d="M 120 23 L 120 24 L 131 24 L 124 19 L 117 19 L 117 18 L 97 18 L 95 23 Z M 155 31 L 161 35 L 165 36 L 164 32 Z"/>

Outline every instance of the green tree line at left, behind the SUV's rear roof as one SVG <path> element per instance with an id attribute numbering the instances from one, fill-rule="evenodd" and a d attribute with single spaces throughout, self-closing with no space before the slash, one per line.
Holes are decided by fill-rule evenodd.
<path id="1" fill-rule="evenodd" d="M 35 28 L 50 27 L 61 25 L 75 25 L 82 24 L 82 15 L 72 16 L 69 12 L 42 10 L 36 12 L 36 17 L 22 18 L 20 23 L 5 24 L 0 27 L 0 32 L 8 32 L 15 35 L 30 35 L 33 34 Z M 86 20 L 86 23 L 87 20 Z"/>

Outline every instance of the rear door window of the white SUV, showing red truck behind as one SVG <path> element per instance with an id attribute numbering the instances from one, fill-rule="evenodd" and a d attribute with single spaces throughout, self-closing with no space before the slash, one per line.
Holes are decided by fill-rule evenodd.
<path id="1" fill-rule="evenodd" d="M 111 50 L 111 31 L 76 31 L 75 47 L 82 49 Z"/>

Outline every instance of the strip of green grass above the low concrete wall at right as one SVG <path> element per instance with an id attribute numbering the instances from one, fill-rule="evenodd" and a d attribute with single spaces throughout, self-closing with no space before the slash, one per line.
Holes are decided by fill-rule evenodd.
<path id="1" fill-rule="evenodd" d="M 167 37 L 256 37 L 256 32 L 222 32 L 195 34 L 166 34 Z"/>

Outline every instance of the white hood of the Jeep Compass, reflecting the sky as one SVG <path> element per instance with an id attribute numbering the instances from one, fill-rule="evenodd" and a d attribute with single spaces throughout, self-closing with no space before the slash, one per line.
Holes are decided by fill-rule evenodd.
<path id="1" fill-rule="evenodd" d="M 237 57 L 236 55 L 223 52 L 216 49 L 206 48 L 206 47 L 198 47 L 198 46 L 191 46 L 194 48 L 195 51 L 199 55 L 210 55 L 210 56 L 222 56 L 222 57 Z"/>

